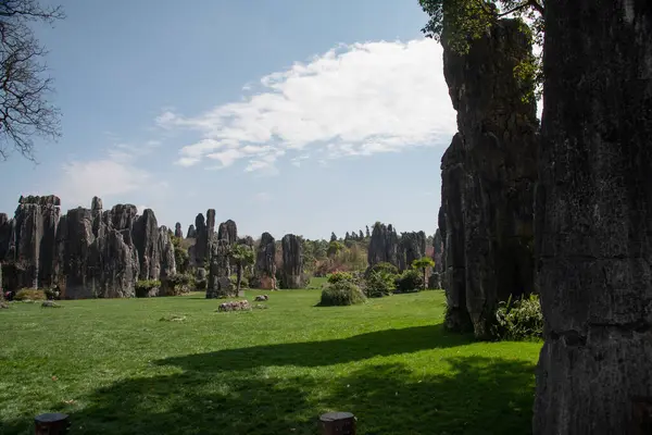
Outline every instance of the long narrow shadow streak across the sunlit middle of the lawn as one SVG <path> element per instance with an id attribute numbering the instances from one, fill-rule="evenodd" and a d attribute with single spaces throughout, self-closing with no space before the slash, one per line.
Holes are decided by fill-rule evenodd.
<path id="1" fill-rule="evenodd" d="M 442 324 L 384 330 L 349 338 L 288 343 L 226 349 L 156 361 L 184 370 L 222 372 L 269 365 L 319 366 L 388 357 L 473 343 L 472 336 L 452 334 Z"/>

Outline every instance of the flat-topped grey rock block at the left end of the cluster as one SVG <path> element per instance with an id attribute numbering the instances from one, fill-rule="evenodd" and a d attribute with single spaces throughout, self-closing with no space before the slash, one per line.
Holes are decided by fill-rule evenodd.
<path id="1" fill-rule="evenodd" d="M 55 237 L 61 200 L 53 196 L 18 199 L 13 220 L 0 217 L 0 261 L 4 285 L 51 287 L 55 282 Z"/>

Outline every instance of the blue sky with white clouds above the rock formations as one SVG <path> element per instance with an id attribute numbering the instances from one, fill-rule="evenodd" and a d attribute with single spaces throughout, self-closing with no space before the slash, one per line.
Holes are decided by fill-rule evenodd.
<path id="1" fill-rule="evenodd" d="M 184 232 L 209 208 L 254 237 L 437 228 L 455 113 L 416 0 L 63 4 L 38 34 L 63 136 L 0 162 L 0 211 L 97 195 Z"/>

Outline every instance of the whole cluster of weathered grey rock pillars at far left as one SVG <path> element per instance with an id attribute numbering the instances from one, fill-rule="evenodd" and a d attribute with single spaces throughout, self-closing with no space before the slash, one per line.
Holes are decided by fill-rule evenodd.
<path id="1" fill-rule="evenodd" d="M 5 287 L 59 288 L 64 299 L 135 296 L 139 278 L 176 273 L 167 228 L 151 210 L 137 216 L 131 204 L 90 209 L 60 216 L 59 198 L 21 197 L 15 216 L 0 214 L 0 262 Z M 139 254 L 140 253 L 140 254 Z"/>

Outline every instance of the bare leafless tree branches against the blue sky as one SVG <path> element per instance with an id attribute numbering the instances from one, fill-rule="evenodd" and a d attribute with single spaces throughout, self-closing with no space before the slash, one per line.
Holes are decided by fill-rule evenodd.
<path id="1" fill-rule="evenodd" d="M 47 51 L 33 23 L 63 20 L 61 7 L 38 0 L 0 0 L 0 159 L 13 151 L 35 161 L 34 136 L 55 140 L 60 111 L 48 101 L 52 78 L 43 61 Z"/>

